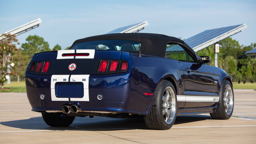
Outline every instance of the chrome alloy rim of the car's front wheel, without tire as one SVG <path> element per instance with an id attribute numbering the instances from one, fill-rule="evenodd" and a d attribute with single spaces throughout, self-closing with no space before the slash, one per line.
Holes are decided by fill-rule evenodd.
<path id="1" fill-rule="evenodd" d="M 234 95 L 229 84 L 225 86 L 223 102 L 226 114 L 230 115 L 234 108 Z"/>

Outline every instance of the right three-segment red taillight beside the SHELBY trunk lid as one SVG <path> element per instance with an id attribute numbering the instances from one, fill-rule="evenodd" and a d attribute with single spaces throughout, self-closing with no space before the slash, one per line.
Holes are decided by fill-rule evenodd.
<path id="1" fill-rule="evenodd" d="M 114 74 L 126 72 L 128 62 L 124 60 L 101 60 L 96 74 Z"/>

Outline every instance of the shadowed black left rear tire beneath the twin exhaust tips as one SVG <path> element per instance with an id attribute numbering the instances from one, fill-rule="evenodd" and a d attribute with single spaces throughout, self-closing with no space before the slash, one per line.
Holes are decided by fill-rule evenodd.
<path id="1" fill-rule="evenodd" d="M 68 116 L 62 112 L 58 113 L 42 113 L 44 122 L 49 126 L 53 127 L 65 127 L 72 124 L 75 119 L 75 116 Z"/>

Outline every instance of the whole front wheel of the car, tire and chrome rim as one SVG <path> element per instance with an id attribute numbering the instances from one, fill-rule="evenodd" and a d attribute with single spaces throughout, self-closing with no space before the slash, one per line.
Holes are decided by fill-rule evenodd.
<path id="1" fill-rule="evenodd" d="M 234 92 L 232 84 L 225 80 L 220 88 L 220 100 L 215 112 L 210 113 L 213 119 L 227 120 L 234 109 Z"/>

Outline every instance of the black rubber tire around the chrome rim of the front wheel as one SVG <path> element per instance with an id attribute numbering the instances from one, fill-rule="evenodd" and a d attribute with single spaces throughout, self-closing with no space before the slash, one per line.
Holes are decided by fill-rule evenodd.
<path id="1" fill-rule="evenodd" d="M 226 86 L 229 85 L 231 87 L 232 91 L 232 96 L 233 96 L 233 105 L 232 105 L 232 110 L 229 112 L 229 114 L 226 113 L 225 111 L 225 105 L 224 105 L 224 93 L 225 93 L 225 88 Z M 210 113 L 210 116 L 212 119 L 218 119 L 218 120 L 227 120 L 232 116 L 233 110 L 234 110 L 234 92 L 233 92 L 233 87 L 230 81 L 225 80 L 222 85 L 220 86 L 220 99 L 218 103 L 218 107 L 215 112 Z"/>

